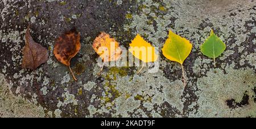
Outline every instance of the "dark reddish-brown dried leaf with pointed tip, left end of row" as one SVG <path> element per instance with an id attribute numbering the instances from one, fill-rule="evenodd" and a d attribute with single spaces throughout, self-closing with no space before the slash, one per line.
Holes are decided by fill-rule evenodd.
<path id="1" fill-rule="evenodd" d="M 30 27 L 27 28 L 25 35 L 26 44 L 23 48 L 22 68 L 36 69 L 39 65 L 48 60 L 47 49 L 35 43 L 30 35 Z"/>

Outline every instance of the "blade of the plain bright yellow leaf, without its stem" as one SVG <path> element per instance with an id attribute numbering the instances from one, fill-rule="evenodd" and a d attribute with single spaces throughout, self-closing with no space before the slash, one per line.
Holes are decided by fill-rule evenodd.
<path id="1" fill-rule="evenodd" d="M 154 62 L 158 59 L 155 48 L 150 43 L 147 43 L 139 34 L 131 41 L 129 51 L 144 63 Z"/>

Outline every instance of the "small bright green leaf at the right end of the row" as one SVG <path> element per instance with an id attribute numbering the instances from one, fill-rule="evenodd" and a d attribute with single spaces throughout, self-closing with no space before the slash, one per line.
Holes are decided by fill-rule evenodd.
<path id="1" fill-rule="evenodd" d="M 209 38 L 201 45 L 201 52 L 203 55 L 213 59 L 214 66 L 216 66 L 215 59 L 220 56 L 225 49 L 226 44 L 214 34 L 213 30 L 210 32 Z"/>

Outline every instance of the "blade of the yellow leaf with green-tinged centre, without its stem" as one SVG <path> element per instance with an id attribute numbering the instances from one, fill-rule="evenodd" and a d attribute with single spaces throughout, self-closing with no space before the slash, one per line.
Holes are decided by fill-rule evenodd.
<path id="1" fill-rule="evenodd" d="M 184 60 L 187 59 L 189 53 L 191 52 L 192 44 L 189 40 L 182 38 L 179 35 L 174 34 L 174 32 L 169 32 L 169 38 L 166 40 L 162 48 L 163 55 L 177 63 L 183 64 Z"/>

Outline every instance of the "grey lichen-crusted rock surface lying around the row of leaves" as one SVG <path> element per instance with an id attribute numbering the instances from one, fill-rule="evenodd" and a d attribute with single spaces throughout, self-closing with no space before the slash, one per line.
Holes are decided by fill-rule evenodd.
<path id="1" fill-rule="evenodd" d="M 0 12 L 0 117 L 256 116 L 254 0 L 3 0 Z M 49 52 L 36 70 L 21 68 L 29 23 L 34 40 Z M 71 62 L 77 82 L 52 52 L 55 39 L 73 27 L 82 44 Z M 226 43 L 216 68 L 200 52 L 211 29 Z M 161 51 L 156 73 L 148 67 L 140 74 L 140 67 L 105 67 L 97 76 L 92 43 L 101 31 L 125 48 L 139 33 L 160 50 L 168 30 L 193 44 L 184 62 L 187 86 L 180 65 Z"/>

